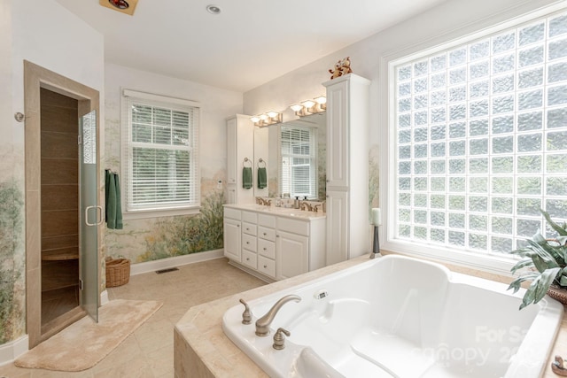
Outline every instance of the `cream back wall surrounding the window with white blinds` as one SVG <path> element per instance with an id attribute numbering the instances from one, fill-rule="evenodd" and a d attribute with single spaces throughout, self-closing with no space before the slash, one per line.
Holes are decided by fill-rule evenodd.
<path id="1" fill-rule="evenodd" d="M 242 112 L 242 93 L 218 89 L 192 81 L 183 81 L 156 73 L 148 73 L 125 66 L 107 64 L 105 69 L 105 159 L 104 168 L 120 173 L 120 98 L 121 89 L 178 97 L 196 101 L 201 105 L 199 133 L 199 163 L 201 166 L 201 199 L 222 191 L 217 181 L 226 180 L 226 118 Z M 122 177 L 123 179 L 123 177 Z M 175 227 L 190 217 L 146 218 L 124 220 L 122 230 L 107 230 L 106 254 L 129 258 L 133 263 L 148 259 L 170 257 L 174 248 L 159 256 L 148 257 L 155 251 L 152 245 L 163 238 L 177 239 Z M 167 223 L 170 222 L 170 223 Z M 167 226 L 165 224 L 167 223 Z M 183 228 L 183 226 L 181 226 Z M 168 228 L 168 229 L 164 229 Z M 165 236 L 164 236 L 165 234 Z M 151 241 L 151 242 L 148 242 Z M 188 243 L 186 243 L 188 244 Z M 190 248 L 186 245 L 185 248 Z M 186 253 L 187 251 L 177 251 Z"/>

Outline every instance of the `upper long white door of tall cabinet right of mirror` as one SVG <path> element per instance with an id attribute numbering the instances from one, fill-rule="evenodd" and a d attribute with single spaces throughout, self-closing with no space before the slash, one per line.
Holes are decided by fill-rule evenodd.
<path id="1" fill-rule="evenodd" d="M 348 185 L 348 81 L 327 87 L 327 187 Z"/>

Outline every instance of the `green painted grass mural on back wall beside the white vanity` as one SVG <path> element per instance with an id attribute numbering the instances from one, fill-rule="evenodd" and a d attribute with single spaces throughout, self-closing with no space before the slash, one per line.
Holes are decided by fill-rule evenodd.
<path id="1" fill-rule="evenodd" d="M 222 204 L 224 193 L 213 191 L 204 198 L 198 215 L 158 220 L 145 237 L 146 252 L 137 262 L 221 249 Z"/>

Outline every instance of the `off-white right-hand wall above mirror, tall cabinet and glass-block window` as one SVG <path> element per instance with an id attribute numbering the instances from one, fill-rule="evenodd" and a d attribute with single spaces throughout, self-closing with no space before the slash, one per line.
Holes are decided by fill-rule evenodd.
<path id="1" fill-rule="evenodd" d="M 552 0 L 448 0 L 428 12 L 371 35 L 361 42 L 338 50 L 325 58 L 300 67 L 291 73 L 269 81 L 244 95 L 245 114 L 259 114 L 268 110 L 283 112 L 283 121 L 293 118 L 289 110 L 306 98 L 324 93 L 322 82 L 330 80 L 328 70 L 339 59 L 350 57 L 353 73 L 370 81 L 370 132 L 369 132 L 369 206 L 380 203 L 379 178 L 384 180 L 380 156 L 384 153 L 381 133 L 387 127 L 387 74 L 384 57 L 401 55 L 417 44 L 432 47 L 447 38 L 470 34 L 478 28 L 489 27 L 505 19 L 530 12 Z M 383 167 L 384 168 L 384 167 Z M 385 172 L 385 169 L 382 169 Z"/>

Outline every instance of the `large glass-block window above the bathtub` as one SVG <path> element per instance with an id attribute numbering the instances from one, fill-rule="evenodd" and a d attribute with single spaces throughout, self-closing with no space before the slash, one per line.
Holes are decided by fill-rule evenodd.
<path id="1" fill-rule="evenodd" d="M 509 258 L 540 208 L 567 219 L 567 13 L 389 70 L 393 241 Z"/>

